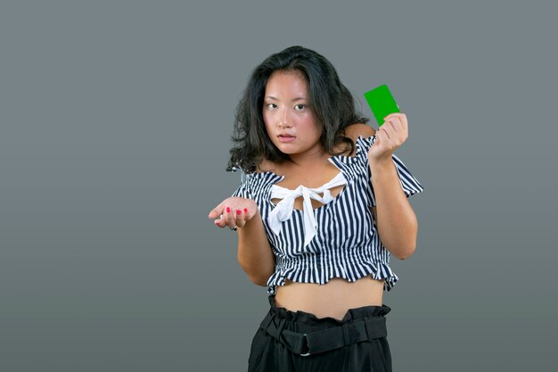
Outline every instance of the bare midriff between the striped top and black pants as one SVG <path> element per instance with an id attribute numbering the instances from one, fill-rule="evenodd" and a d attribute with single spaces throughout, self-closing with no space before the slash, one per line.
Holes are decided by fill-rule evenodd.
<path id="1" fill-rule="evenodd" d="M 383 283 L 383 279 L 374 279 L 371 276 L 361 277 L 356 282 L 332 277 L 324 285 L 285 279 L 284 285 L 277 285 L 275 304 L 295 312 L 309 312 L 317 318 L 341 320 L 349 309 L 381 306 Z"/>

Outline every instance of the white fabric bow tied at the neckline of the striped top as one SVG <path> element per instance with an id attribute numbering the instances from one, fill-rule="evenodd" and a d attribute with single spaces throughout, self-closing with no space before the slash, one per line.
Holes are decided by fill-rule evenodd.
<path id="1" fill-rule="evenodd" d="M 267 221 L 269 226 L 273 230 L 276 236 L 281 234 L 282 222 L 287 219 L 291 219 L 292 210 L 294 208 L 294 200 L 300 196 L 303 198 L 303 212 L 304 212 L 304 246 L 308 245 L 312 238 L 316 236 L 316 216 L 314 215 L 314 209 L 312 208 L 312 199 L 316 199 L 318 202 L 327 204 L 332 202 L 335 198 L 332 197 L 330 188 L 340 185 L 347 184 L 347 179 L 340 172 L 331 181 L 323 186 L 316 188 L 308 188 L 306 186 L 298 186 L 294 190 L 284 188 L 282 186 L 273 185 L 271 186 L 271 199 L 283 199 L 281 202 L 277 203 L 275 209 L 269 213 Z M 320 196 L 319 194 L 324 194 Z"/>

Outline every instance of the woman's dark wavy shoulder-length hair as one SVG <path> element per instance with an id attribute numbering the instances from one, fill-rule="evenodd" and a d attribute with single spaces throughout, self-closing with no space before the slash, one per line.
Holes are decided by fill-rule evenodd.
<path id="1" fill-rule="evenodd" d="M 308 100 L 317 122 L 322 126 L 321 144 L 327 153 L 338 155 L 355 150 L 353 141 L 345 136 L 345 128 L 355 123 L 366 123 L 355 109 L 355 101 L 345 87 L 332 63 L 321 54 L 299 45 L 272 54 L 252 70 L 242 98 L 236 106 L 234 147 L 227 171 L 242 169 L 253 173 L 258 164 L 267 159 L 276 163 L 290 161 L 267 136 L 263 119 L 263 103 L 267 79 L 275 70 L 298 71 L 308 83 Z M 345 143 L 345 150 L 335 153 L 336 145 Z"/>

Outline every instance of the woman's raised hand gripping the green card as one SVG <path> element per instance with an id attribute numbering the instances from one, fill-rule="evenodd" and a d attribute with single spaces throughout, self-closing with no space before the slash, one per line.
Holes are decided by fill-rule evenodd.
<path id="1" fill-rule="evenodd" d="M 391 160 L 391 155 L 400 145 L 403 145 L 408 136 L 404 113 L 391 113 L 384 120 L 382 127 L 376 130 L 376 138 L 368 150 L 368 158 L 372 161 Z"/>

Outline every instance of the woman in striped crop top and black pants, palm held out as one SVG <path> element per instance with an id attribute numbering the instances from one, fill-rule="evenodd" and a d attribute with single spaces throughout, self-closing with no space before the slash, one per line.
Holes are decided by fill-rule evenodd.
<path id="1" fill-rule="evenodd" d="M 377 131 L 322 55 L 291 46 L 252 71 L 237 107 L 227 170 L 242 185 L 210 211 L 238 232 L 238 261 L 267 285 L 270 310 L 249 371 L 390 371 L 382 293 L 409 257 L 423 186 L 394 151 L 406 115 Z M 401 192 L 403 191 L 403 192 Z"/>

